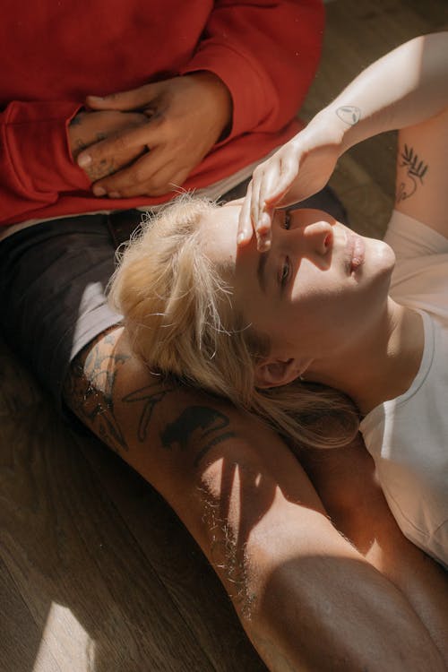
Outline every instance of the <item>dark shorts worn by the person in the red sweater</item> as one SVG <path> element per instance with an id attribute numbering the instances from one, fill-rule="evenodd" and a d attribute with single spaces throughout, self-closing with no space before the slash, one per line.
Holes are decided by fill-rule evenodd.
<path id="1" fill-rule="evenodd" d="M 247 182 L 220 200 L 243 196 Z M 300 207 L 328 211 L 345 221 L 329 189 Z M 73 358 L 120 321 L 108 307 L 106 288 L 115 269 L 116 246 L 141 219 L 142 212 L 128 210 L 50 220 L 0 243 L 0 327 L 57 405 Z"/>

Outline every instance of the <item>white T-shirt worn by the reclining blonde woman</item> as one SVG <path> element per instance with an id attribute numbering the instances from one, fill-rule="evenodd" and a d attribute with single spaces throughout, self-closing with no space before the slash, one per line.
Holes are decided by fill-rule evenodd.
<path id="1" fill-rule="evenodd" d="M 401 530 L 448 566 L 448 239 L 394 211 L 385 240 L 397 256 L 391 296 L 422 315 L 425 348 L 409 390 L 361 432 Z"/>

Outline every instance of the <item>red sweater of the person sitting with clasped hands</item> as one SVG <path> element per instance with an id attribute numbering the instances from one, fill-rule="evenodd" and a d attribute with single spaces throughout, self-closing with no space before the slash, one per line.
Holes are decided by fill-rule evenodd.
<path id="1" fill-rule="evenodd" d="M 184 187 L 260 159 L 297 132 L 322 33 L 320 0 L 4 0 L 0 224 L 167 200 L 90 193 L 67 141 L 88 93 L 209 70 L 230 90 L 233 125 Z"/>

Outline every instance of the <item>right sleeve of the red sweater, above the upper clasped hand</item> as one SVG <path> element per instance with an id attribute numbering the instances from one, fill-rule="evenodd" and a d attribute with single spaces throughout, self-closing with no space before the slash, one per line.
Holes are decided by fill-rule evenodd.
<path id="1" fill-rule="evenodd" d="M 209 70 L 233 98 L 226 140 L 272 133 L 297 113 L 319 62 L 321 0 L 219 0 L 182 73 Z"/>

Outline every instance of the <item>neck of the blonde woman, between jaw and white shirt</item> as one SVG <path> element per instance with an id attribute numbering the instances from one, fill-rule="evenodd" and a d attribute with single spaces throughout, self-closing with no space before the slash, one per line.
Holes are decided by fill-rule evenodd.
<path id="1" fill-rule="evenodd" d="M 421 316 L 389 298 L 384 313 L 368 333 L 350 343 L 346 352 L 322 364 L 314 362 L 306 380 L 345 392 L 366 415 L 409 389 L 418 373 L 423 346 Z"/>

